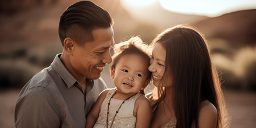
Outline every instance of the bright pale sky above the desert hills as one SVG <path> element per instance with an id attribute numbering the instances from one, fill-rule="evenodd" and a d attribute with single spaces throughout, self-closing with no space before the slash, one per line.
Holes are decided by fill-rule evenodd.
<path id="1" fill-rule="evenodd" d="M 120 2 L 123 6 L 137 7 L 159 2 L 163 9 L 170 12 L 208 17 L 221 16 L 237 10 L 256 9 L 256 0 L 120 0 Z"/>

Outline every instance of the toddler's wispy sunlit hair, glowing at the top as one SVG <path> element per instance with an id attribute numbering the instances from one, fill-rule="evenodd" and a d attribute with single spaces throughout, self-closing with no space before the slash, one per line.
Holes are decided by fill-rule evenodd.
<path id="1" fill-rule="evenodd" d="M 141 55 L 148 59 L 148 66 L 150 65 L 150 48 L 141 40 L 140 37 L 131 37 L 128 41 L 113 45 L 113 51 L 114 54 L 112 56 L 112 63 L 109 65 L 110 71 L 111 69 L 115 69 L 116 64 L 119 62 L 120 58 L 127 54 Z M 148 71 L 147 79 L 151 79 L 150 71 Z M 145 94 L 144 90 L 141 90 L 141 93 Z"/>

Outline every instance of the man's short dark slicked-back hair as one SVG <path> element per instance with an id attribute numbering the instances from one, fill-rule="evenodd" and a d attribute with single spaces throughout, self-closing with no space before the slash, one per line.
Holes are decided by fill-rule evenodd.
<path id="1" fill-rule="evenodd" d="M 113 26 L 113 19 L 106 10 L 90 1 L 80 1 L 70 5 L 59 19 L 59 38 L 63 46 L 66 37 L 77 44 L 94 41 L 94 29 Z"/>

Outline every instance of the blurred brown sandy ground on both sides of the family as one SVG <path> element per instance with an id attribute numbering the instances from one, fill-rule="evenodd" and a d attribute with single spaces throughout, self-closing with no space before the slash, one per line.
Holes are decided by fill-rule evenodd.
<path id="1" fill-rule="evenodd" d="M 20 90 L 0 91 L 0 127 L 13 128 L 16 98 Z M 251 128 L 256 126 L 256 93 L 226 91 L 229 113 L 232 115 L 231 128 Z"/>

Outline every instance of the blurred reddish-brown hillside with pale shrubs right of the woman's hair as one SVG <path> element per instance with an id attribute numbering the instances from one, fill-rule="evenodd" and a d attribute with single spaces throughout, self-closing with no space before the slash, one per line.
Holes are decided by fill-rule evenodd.
<path id="1" fill-rule="evenodd" d="M 211 45 L 223 86 L 256 90 L 256 9 L 241 10 L 195 23 Z"/>

